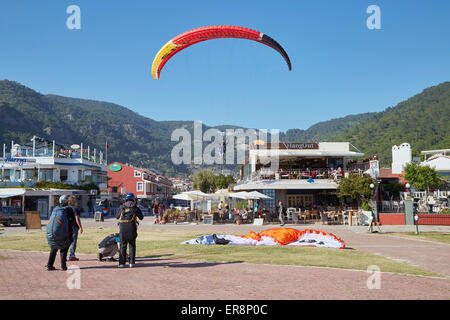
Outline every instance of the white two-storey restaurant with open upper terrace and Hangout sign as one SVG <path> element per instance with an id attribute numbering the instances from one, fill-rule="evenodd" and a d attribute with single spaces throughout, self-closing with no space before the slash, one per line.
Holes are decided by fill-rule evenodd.
<path id="1" fill-rule="evenodd" d="M 252 145 L 248 161 L 241 167 L 241 179 L 233 189 L 257 190 L 270 196 L 272 199 L 265 200 L 264 206 L 272 209 L 280 200 L 287 207 L 302 209 L 337 204 L 338 180 L 353 171 L 363 173 L 349 166 L 352 158 L 363 155 L 351 151 L 349 142 Z M 275 162 L 278 168 L 273 170 Z M 378 167 L 378 160 L 373 161 L 372 167 Z M 377 171 L 371 165 L 366 170 Z"/>

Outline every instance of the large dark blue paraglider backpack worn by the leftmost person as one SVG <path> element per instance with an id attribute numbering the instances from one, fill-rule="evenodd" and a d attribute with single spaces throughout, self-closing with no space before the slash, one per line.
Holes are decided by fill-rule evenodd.
<path id="1" fill-rule="evenodd" d="M 67 207 L 56 207 L 47 224 L 47 242 L 51 249 L 64 250 L 70 246 L 69 219 Z"/>

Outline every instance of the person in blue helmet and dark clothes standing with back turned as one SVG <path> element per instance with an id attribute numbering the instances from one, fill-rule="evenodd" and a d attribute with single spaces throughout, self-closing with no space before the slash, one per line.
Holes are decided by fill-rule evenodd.
<path id="1" fill-rule="evenodd" d="M 128 193 L 125 197 L 125 203 L 120 206 L 116 214 L 116 219 L 119 219 L 120 226 L 119 268 L 125 267 L 128 244 L 130 245 L 130 268 L 133 268 L 135 265 L 137 238 L 136 218 L 142 220 L 144 219 L 144 215 L 136 205 L 134 194 Z"/>

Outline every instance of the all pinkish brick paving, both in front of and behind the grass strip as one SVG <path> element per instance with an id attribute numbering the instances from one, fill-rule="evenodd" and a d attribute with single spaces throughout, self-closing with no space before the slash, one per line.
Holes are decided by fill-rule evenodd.
<path id="1" fill-rule="evenodd" d="M 146 217 L 140 228 L 246 234 L 269 226 L 155 225 Z M 116 228 L 116 221 L 83 219 L 84 227 Z M 286 225 L 286 227 L 294 227 Z M 334 233 L 348 247 L 406 260 L 450 276 L 450 245 L 369 234 L 364 227 L 296 225 Z M 428 231 L 436 231 L 429 226 Z M 6 228 L 9 229 L 9 228 Z M 395 228 L 390 228 L 390 231 Z M 382 228 L 387 231 L 388 228 Z M 423 230 L 425 231 L 425 229 Z M 450 230 L 440 229 L 440 231 Z M 5 231 L 0 231 L 5 232 Z M 18 229 L 15 230 L 15 233 Z M 1 241 L 1 240 L 0 240 Z M 48 253 L 0 250 L 0 299 L 450 299 L 450 280 L 382 273 L 380 289 L 369 289 L 365 271 L 332 268 L 204 263 L 170 256 L 137 258 L 135 269 L 79 255 L 77 271 L 45 271 Z M 59 266 L 57 257 L 56 266 Z M 69 286 L 67 285 L 69 283 Z"/>

